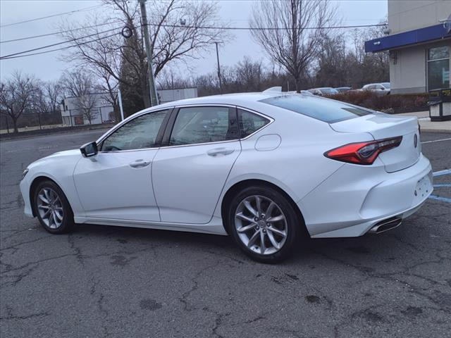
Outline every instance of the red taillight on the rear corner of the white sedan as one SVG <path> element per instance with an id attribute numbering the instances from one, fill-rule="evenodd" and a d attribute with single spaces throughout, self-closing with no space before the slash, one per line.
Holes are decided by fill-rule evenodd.
<path id="1" fill-rule="evenodd" d="M 383 151 L 396 148 L 401 144 L 401 141 L 402 136 L 398 136 L 371 142 L 350 143 L 326 151 L 324 156 L 337 161 L 369 165 L 373 164 L 379 154 Z"/>

